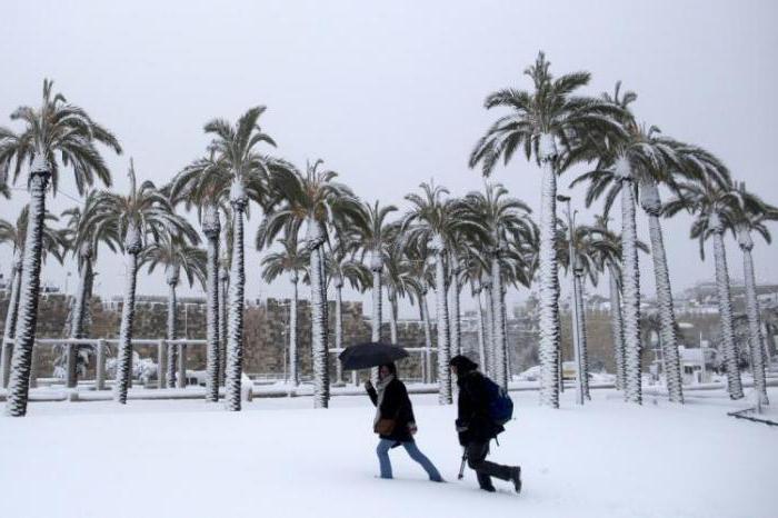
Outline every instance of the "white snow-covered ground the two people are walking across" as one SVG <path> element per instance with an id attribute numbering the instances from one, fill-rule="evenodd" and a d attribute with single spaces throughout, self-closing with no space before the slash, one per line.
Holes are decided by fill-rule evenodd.
<path id="1" fill-rule="evenodd" d="M 610 389 L 558 411 L 513 392 L 517 419 L 492 459 L 520 464 L 525 490 L 457 481 L 455 407 L 416 395 L 419 447 L 447 484 L 392 450 L 378 462 L 367 397 L 255 399 L 243 412 L 192 400 L 36 402 L 0 418 L 0 509 L 27 517 L 775 517 L 778 428 L 727 417 L 721 394 L 642 408 Z M 778 390 L 770 389 L 778 404 Z M 770 410 L 778 420 L 778 411 Z"/>

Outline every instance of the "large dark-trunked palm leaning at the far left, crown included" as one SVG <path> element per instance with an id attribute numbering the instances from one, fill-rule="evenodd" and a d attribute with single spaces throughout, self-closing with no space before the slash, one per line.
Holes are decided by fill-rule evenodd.
<path id="1" fill-rule="evenodd" d="M 40 108 L 20 107 L 11 113 L 12 120 L 24 123 L 21 133 L 0 128 L 0 171 L 4 173 L 10 170 L 14 162 L 16 181 L 22 166 L 29 165 L 30 225 L 22 259 L 18 329 L 6 404 L 7 414 L 16 417 L 27 412 L 32 343 L 38 320 L 46 190 L 51 182 L 52 190 L 57 191 L 60 165 L 72 169 L 79 195 L 83 195 L 86 187 L 93 183 L 94 177 L 110 186 L 110 172 L 96 142 L 121 152 L 119 142 L 107 129 L 94 122 L 83 109 L 68 103 L 61 93 L 53 94 L 51 87 L 51 81 L 43 81 Z"/>

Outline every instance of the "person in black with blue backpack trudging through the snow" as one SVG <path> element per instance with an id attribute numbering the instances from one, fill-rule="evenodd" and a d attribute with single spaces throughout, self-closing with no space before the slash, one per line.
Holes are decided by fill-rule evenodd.
<path id="1" fill-rule="evenodd" d="M 521 492 L 521 468 L 502 466 L 486 460 L 489 442 L 505 431 L 502 425 L 510 420 L 513 404 L 506 391 L 478 371 L 478 365 L 466 356 L 455 356 L 449 362 L 459 386 L 457 432 L 465 448 L 465 458 L 476 471 L 478 485 L 485 491 L 496 491 L 491 478 L 511 481 L 516 492 Z M 462 460 L 463 461 L 463 460 Z"/>

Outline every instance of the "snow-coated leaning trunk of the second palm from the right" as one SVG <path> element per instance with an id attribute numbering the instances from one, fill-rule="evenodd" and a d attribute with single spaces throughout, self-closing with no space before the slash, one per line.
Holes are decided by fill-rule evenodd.
<path id="1" fill-rule="evenodd" d="M 729 271 L 727 269 L 727 252 L 724 248 L 724 228 L 718 222 L 718 215 L 711 218 L 714 229 L 714 257 L 716 259 L 716 288 L 719 298 L 719 315 L 721 318 L 721 349 L 727 370 L 727 388 L 731 399 L 744 397 L 740 369 L 735 349 L 735 330 L 732 327 L 732 299 L 729 292 Z"/>

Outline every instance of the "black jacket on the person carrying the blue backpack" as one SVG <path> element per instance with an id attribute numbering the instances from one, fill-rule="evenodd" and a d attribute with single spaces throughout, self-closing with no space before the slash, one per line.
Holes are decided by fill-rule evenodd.
<path id="1" fill-rule="evenodd" d="M 461 376 L 457 385 L 459 444 L 466 446 L 470 442 L 489 442 L 505 428 L 489 417 L 489 395 L 483 383 L 483 375 L 471 370 Z"/>

